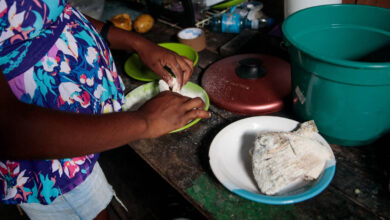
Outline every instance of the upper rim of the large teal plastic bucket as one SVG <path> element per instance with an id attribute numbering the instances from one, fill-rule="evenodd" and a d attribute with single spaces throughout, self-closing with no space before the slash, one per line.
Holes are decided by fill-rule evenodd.
<path id="1" fill-rule="evenodd" d="M 371 6 L 371 5 L 358 5 L 358 4 L 328 4 L 328 5 L 319 5 L 319 6 L 305 8 L 305 9 L 297 11 L 297 12 L 293 13 L 292 15 L 288 16 L 282 24 L 282 32 L 283 32 L 284 38 L 286 39 L 288 44 L 291 44 L 289 46 L 290 47 L 294 46 L 297 50 L 304 52 L 305 54 L 309 55 L 310 57 L 313 57 L 315 59 L 321 60 L 321 61 L 326 62 L 326 63 L 336 64 L 338 66 L 350 67 L 350 68 L 356 68 L 356 69 L 390 68 L 390 61 L 389 62 L 359 62 L 359 61 L 349 61 L 349 60 L 345 60 L 345 59 L 329 58 L 327 56 L 313 54 L 310 50 L 302 48 L 299 42 L 292 39 L 293 33 L 290 33 L 287 30 L 287 26 L 289 25 L 291 20 L 294 19 L 294 17 L 299 16 L 300 14 L 303 14 L 308 10 L 312 10 L 313 8 L 334 8 L 334 7 L 375 8 L 377 10 L 387 11 L 390 14 L 390 9 L 387 9 L 387 8 L 376 7 L 376 6 Z M 390 35 L 390 32 L 389 32 L 389 35 Z"/>

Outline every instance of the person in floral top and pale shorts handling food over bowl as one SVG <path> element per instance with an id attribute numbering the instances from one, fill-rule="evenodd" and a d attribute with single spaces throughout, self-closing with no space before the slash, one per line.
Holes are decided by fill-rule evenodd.
<path id="1" fill-rule="evenodd" d="M 138 53 L 170 85 L 164 67 L 183 86 L 192 62 L 66 0 L 0 0 L 0 21 L 0 200 L 31 219 L 107 219 L 115 192 L 99 152 L 210 117 L 201 99 L 169 91 L 122 111 L 108 44 Z"/>

